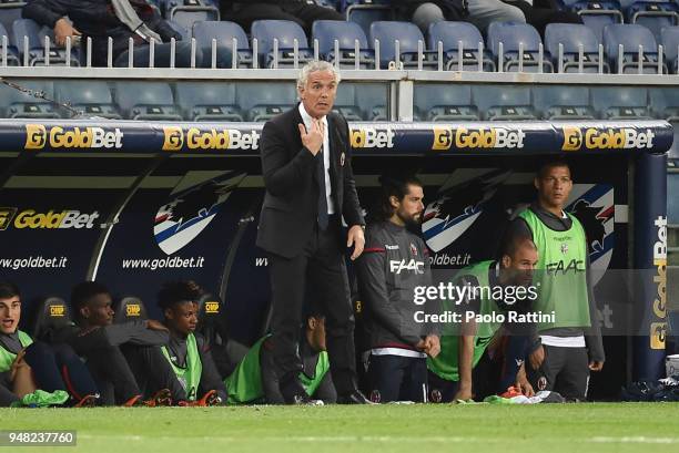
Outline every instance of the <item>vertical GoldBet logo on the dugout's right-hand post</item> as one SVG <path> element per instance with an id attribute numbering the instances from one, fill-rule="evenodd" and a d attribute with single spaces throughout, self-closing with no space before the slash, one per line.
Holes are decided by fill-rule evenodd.
<path id="1" fill-rule="evenodd" d="M 653 276 L 657 285 L 657 298 L 653 300 L 653 315 L 660 322 L 650 325 L 650 348 L 665 349 L 667 332 L 667 217 L 659 216 L 653 222 L 658 228 L 658 240 L 653 244 L 653 266 L 658 274 Z"/>

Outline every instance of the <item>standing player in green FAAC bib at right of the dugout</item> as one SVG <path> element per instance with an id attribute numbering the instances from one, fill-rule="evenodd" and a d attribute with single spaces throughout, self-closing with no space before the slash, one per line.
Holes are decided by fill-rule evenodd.
<path id="1" fill-rule="evenodd" d="M 554 310 L 556 316 L 538 323 L 541 344 L 530 354 L 528 374 L 537 390 L 556 390 L 566 399 L 585 400 L 589 372 L 601 370 L 605 353 L 588 276 L 587 237 L 580 222 L 565 212 L 572 189 L 570 168 L 565 162 L 548 163 L 534 184 L 538 199 L 518 214 L 509 236 L 533 238 L 540 258 L 536 310 Z"/>

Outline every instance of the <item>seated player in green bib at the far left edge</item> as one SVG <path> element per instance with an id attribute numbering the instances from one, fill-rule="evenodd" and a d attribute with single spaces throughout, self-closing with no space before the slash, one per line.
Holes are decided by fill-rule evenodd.
<path id="1" fill-rule="evenodd" d="M 19 288 L 0 281 L 0 406 L 93 405 L 97 385 L 73 350 L 33 342 L 19 330 L 20 319 Z"/>

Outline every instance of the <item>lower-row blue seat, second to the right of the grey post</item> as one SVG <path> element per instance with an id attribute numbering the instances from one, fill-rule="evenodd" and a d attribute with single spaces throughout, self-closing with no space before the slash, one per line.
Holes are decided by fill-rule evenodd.
<path id="1" fill-rule="evenodd" d="M 472 97 L 484 120 L 536 120 L 530 89 L 525 86 L 475 85 Z"/>

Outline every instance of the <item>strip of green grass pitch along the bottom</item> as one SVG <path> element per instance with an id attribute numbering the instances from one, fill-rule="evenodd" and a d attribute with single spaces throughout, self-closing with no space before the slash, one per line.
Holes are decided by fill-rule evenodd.
<path id="1" fill-rule="evenodd" d="M 2 409 L 0 430 L 77 430 L 12 452 L 679 452 L 679 403 Z"/>

